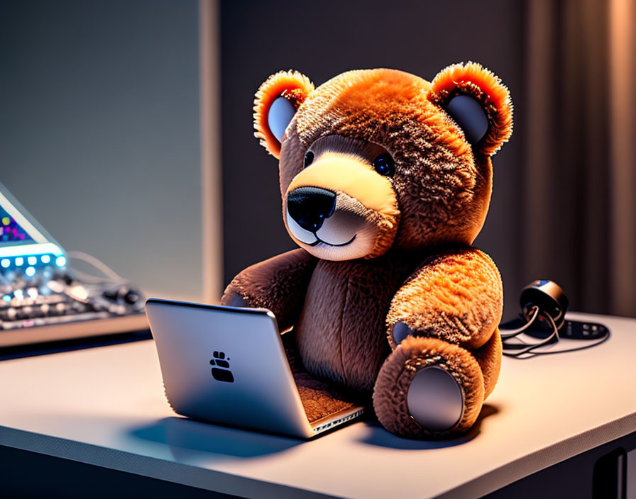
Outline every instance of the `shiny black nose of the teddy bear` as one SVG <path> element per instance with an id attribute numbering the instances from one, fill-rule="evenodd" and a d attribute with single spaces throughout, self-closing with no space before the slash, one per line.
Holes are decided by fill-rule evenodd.
<path id="1" fill-rule="evenodd" d="M 336 208 L 336 193 L 319 187 L 299 187 L 287 194 L 287 211 L 303 229 L 316 232 Z"/>

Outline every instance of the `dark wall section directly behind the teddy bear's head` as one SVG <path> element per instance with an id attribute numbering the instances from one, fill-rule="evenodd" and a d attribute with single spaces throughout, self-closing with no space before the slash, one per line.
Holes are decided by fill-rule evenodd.
<path id="1" fill-rule="evenodd" d="M 523 4 L 490 0 L 221 2 L 225 281 L 294 247 L 280 213 L 277 162 L 253 138 L 253 94 L 270 74 L 297 69 L 321 84 L 347 69 L 393 67 L 432 79 L 474 60 L 522 96 Z M 515 101 L 522 112 L 521 99 Z M 517 312 L 522 130 L 496 155 L 493 201 L 476 245 L 497 262 L 505 315 Z"/>

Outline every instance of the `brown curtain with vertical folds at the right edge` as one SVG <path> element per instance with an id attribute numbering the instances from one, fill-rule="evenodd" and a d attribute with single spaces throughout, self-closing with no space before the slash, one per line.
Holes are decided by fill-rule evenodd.
<path id="1" fill-rule="evenodd" d="M 524 279 L 572 310 L 636 316 L 636 0 L 529 0 Z"/>

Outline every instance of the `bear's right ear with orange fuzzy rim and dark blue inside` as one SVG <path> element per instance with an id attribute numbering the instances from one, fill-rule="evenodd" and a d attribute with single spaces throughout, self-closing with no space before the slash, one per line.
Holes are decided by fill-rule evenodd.
<path id="1" fill-rule="evenodd" d="M 455 120 L 476 152 L 493 155 L 510 138 L 510 92 L 476 62 L 442 69 L 431 83 L 428 99 Z"/>

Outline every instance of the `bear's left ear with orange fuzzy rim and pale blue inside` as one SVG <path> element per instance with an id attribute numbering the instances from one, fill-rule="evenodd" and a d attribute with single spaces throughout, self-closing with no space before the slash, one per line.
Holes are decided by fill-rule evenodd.
<path id="1" fill-rule="evenodd" d="M 270 76 L 256 92 L 254 98 L 254 128 L 261 145 L 278 158 L 280 142 L 285 128 L 307 96 L 314 91 L 314 84 L 297 71 L 280 71 Z"/>

